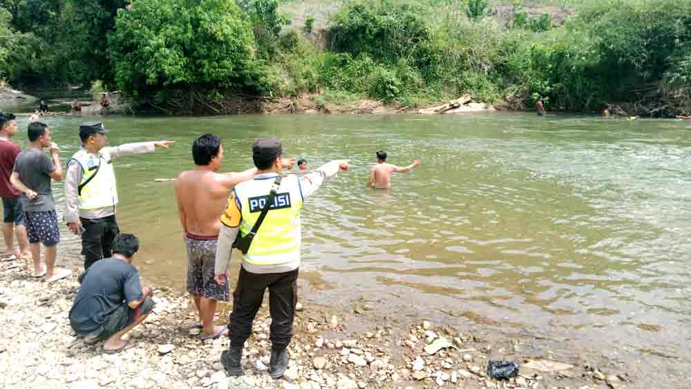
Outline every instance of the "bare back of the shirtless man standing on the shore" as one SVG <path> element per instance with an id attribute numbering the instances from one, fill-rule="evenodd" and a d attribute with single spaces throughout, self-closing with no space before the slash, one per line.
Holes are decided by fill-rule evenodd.
<path id="1" fill-rule="evenodd" d="M 175 194 L 184 231 L 198 236 L 218 236 L 220 216 L 230 191 L 223 184 L 223 174 L 196 170 L 180 173 Z"/>

